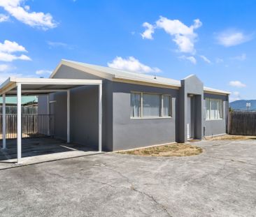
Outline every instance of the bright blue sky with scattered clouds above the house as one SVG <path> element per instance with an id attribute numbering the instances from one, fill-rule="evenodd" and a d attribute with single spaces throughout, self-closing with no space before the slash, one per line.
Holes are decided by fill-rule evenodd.
<path id="1" fill-rule="evenodd" d="M 48 77 L 61 59 L 254 99 L 256 1 L 1 0 L 0 81 Z"/>

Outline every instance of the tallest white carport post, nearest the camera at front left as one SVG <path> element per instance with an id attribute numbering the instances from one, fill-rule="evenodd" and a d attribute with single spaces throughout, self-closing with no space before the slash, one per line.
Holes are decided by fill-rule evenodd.
<path id="1" fill-rule="evenodd" d="M 22 85 L 17 83 L 17 163 L 22 158 L 22 110 L 21 110 Z"/>

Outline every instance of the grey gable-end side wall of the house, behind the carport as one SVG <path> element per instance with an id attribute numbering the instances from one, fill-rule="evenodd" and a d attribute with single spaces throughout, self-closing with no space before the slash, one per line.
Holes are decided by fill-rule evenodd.
<path id="1" fill-rule="evenodd" d="M 54 78 L 102 80 L 101 77 L 61 66 Z M 104 151 L 113 149 L 112 82 L 103 80 L 102 143 Z M 66 140 L 66 93 L 55 93 L 55 134 Z M 95 146 L 98 141 L 98 89 L 71 91 L 71 142 Z M 97 115 L 95 114 L 97 113 Z M 74 121 L 75 120 L 75 121 Z M 96 129 L 97 128 L 97 129 Z"/>

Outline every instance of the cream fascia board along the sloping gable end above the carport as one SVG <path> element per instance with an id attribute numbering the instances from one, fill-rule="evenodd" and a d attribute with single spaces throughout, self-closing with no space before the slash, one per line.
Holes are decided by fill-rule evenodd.
<path id="1" fill-rule="evenodd" d="M 101 70 L 95 70 L 95 69 L 92 69 L 90 67 L 87 67 L 87 66 L 83 66 L 81 64 L 78 64 L 78 63 L 73 63 L 71 61 L 67 61 L 65 59 L 62 59 L 62 61 L 59 63 L 59 65 L 57 66 L 57 68 L 55 68 L 55 70 L 52 72 L 52 74 L 50 75 L 50 78 L 53 78 L 55 76 L 55 74 L 57 73 L 57 71 L 59 70 L 59 68 L 64 65 L 64 66 L 69 66 L 71 68 L 75 68 L 77 70 L 81 70 L 85 73 L 89 73 L 89 74 L 92 74 L 92 75 L 95 75 L 95 76 L 98 76 L 98 77 L 102 77 L 106 80 L 112 80 L 114 75 L 112 74 L 109 74 L 109 73 L 104 73 L 102 72 Z"/>

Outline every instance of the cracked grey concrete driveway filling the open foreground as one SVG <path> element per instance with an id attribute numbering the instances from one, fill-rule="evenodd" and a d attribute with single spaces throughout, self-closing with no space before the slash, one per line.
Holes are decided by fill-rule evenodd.
<path id="1" fill-rule="evenodd" d="M 204 153 L 0 170 L 0 216 L 256 216 L 256 140 L 193 144 Z"/>

